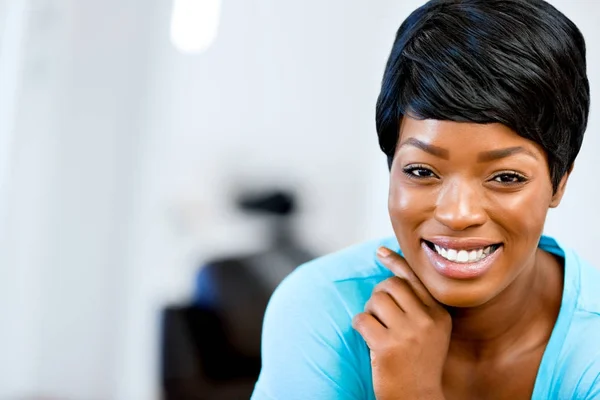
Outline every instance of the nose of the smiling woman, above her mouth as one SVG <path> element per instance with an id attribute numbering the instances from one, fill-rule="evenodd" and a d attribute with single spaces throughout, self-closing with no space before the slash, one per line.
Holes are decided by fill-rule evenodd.
<path id="1" fill-rule="evenodd" d="M 483 225 L 487 213 L 479 188 L 468 182 L 448 182 L 438 194 L 435 219 L 453 231 Z"/>

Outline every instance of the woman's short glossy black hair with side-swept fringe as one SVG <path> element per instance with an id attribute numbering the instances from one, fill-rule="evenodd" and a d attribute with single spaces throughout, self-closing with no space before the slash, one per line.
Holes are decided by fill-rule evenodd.
<path id="1" fill-rule="evenodd" d="M 546 152 L 556 191 L 583 141 L 590 88 L 583 35 L 543 0 L 432 0 L 400 26 L 377 100 L 379 145 L 419 119 L 502 123 Z"/>

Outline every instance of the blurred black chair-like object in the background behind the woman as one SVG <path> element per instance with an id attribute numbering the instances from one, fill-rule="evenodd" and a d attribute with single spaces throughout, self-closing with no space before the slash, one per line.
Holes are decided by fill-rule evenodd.
<path id="1" fill-rule="evenodd" d="M 248 399 L 260 372 L 265 308 L 279 283 L 315 256 L 295 239 L 294 196 L 245 195 L 238 207 L 270 223 L 269 245 L 201 266 L 192 304 L 170 307 L 163 319 L 164 400 Z"/>

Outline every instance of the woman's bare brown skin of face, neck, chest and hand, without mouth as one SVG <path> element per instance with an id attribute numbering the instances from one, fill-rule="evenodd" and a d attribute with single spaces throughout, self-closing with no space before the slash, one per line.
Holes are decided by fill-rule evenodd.
<path id="1" fill-rule="evenodd" d="M 567 179 L 553 191 L 543 149 L 504 125 L 403 119 L 389 214 L 404 258 L 380 249 L 394 276 L 353 321 L 377 399 L 531 398 L 563 286 L 562 260 L 537 244 Z M 439 237 L 501 247 L 457 279 L 422 246 Z"/>

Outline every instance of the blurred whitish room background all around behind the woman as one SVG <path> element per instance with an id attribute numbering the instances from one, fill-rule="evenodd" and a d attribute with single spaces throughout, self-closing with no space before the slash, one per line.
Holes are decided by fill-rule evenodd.
<path id="1" fill-rule="evenodd" d="M 600 92 L 600 3 L 551 3 Z M 0 0 L 0 399 L 247 398 L 277 283 L 391 234 L 375 100 L 421 4 Z M 598 265 L 599 112 L 546 229 Z"/>

